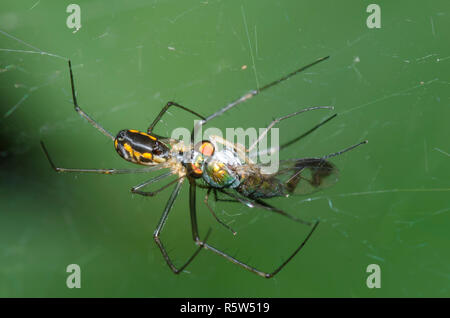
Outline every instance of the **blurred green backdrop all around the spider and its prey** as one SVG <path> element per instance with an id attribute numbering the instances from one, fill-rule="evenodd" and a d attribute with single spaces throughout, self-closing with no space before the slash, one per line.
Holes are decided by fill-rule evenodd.
<path id="1" fill-rule="evenodd" d="M 377 1 L 380 29 L 366 26 L 371 1 L 77 1 L 77 33 L 66 26 L 70 3 L 0 4 L 0 30 L 17 39 L 0 34 L 0 296 L 450 296 L 447 0 Z M 331 55 L 211 126 L 265 127 L 307 106 L 334 105 L 338 117 L 281 158 L 369 144 L 332 160 L 341 172 L 332 188 L 270 201 L 322 221 L 274 279 L 209 251 L 176 276 L 152 239 L 170 191 L 132 195 L 132 186 L 150 178 L 142 174 L 51 170 L 39 140 L 59 166 L 133 165 L 73 111 L 63 59 L 18 52 L 38 49 L 72 60 L 80 105 L 113 133 L 145 130 L 169 100 L 211 114 Z M 283 122 L 281 141 L 330 114 Z M 157 132 L 190 128 L 192 119 L 172 110 Z M 197 201 L 200 234 L 212 227 L 210 243 L 263 270 L 275 268 L 308 231 L 267 211 L 215 204 L 237 230 L 233 237 L 202 193 Z M 195 249 L 187 185 L 162 239 L 177 264 Z M 81 266 L 81 289 L 66 287 L 73 263 Z M 381 268 L 380 289 L 366 286 L 369 264 Z"/>

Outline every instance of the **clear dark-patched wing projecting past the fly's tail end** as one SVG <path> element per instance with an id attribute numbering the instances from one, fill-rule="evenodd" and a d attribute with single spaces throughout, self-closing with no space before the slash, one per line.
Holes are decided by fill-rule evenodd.
<path id="1" fill-rule="evenodd" d="M 331 162 L 321 158 L 304 158 L 280 161 L 278 171 L 265 177 L 276 179 L 284 195 L 302 195 L 335 184 L 338 175 L 338 169 Z"/>

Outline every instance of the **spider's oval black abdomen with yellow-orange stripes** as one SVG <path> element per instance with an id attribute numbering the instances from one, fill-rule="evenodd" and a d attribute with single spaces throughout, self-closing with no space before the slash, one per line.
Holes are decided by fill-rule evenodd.
<path id="1" fill-rule="evenodd" d="M 138 130 L 121 130 L 114 140 L 114 147 L 122 158 L 141 165 L 164 163 L 170 157 L 166 144 Z"/>

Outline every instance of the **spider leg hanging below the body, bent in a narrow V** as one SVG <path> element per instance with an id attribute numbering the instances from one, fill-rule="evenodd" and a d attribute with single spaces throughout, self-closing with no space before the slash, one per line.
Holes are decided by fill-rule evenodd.
<path id="1" fill-rule="evenodd" d="M 174 274 L 179 274 L 181 273 L 192 261 L 193 259 L 198 255 L 198 253 L 201 251 L 203 246 L 199 246 L 196 251 L 192 254 L 191 257 L 189 257 L 189 259 L 180 267 L 177 268 L 173 262 L 171 261 L 169 254 L 167 253 L 166 249 L 164 248 L 164 245 L 161 242 L 161 239 L 159 238 L 161 231 L 164 227 L 164 224 L 167 221 L 167 217 L 169 215 L 170 210 L 172 209 L 172 206 L 175 202 L 175 199 L 177 198 L 178 194 L 180 193 L 180 189 L 181 186 L 183 184 L 184 178 L 178 180 L 177 185 L 175 186 L 175 188 L 172 191 L 172 194 L 169 198 L 169 200 L 167 201 L 166 207 L 164 208 L 164 212 L 161 215 L 161 219 L 159 220 L 158 226 L 156 227 L 155 232 L 153 233 L 153 239 L 155 240 L 156 244 L 158 245 L 167 265 L 169 265 L 170 269 L 172 270 L 172 272 L 174 272 Z M 208 236 L 210 234 L 211 230 L 208 231 L 208 233 L 205 236 L 205 242 L 208 239 Z"/>

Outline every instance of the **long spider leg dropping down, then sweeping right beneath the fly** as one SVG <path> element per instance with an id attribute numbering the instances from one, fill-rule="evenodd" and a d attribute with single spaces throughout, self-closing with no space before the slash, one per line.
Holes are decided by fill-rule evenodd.
<path id="1" fill-rule="evenodd" d="M 305 246 L 306 242 L 309 240 L 309 238 L 311 237 L 312 233 L 314 232 L 314 230 L 316 229 L 317 225 L 319 224 L 319 222 L 316 222 L 313 226 L 313 228 L 311 229 L 311 231 L 309 232 L 309 234 L 306 236 L 306 238 L 303 240 L 303 242 L 300 244 L 299 247 L 297 247 L 297 249 L 295 249 L 295 251 L 283 262 L 281 263 L 280 266 L 278 266 L 277 268 L 275 268 L 274 271 L 267 273 L 267 272 L 263 272 L 253 266 L 247 265 L 246 263 L 228 255 L 225 252 L 222 252 L 221 250 L 215 248 L 212 245 L 209 245 L 208 243 L 206 243 L 205 241 L 202 241 L 198 235 L 198 224 L 197 224 L 197 211 L 196 211 L 196 205 L 195 205 L 195 199 L 196 199 L 196 183 L 195 180 L 190 180 L 190 187 L 189 187 L 189 209 L 190 209 L 190 215 L 191 215 L 191 227 L 192 227 L 192 237 L 195 241 L 195 243 L 200 247 L 200 248 L 205 248 L 207 250 L 210 250 L 214 253 L 216 253 L 217 255 L 220 255 L 222 257 L 224 257 L 225 259 L 227 259 L 228 261 L 242 267 L 245 268 L 246 270 L 257 274 L 261 277 L 264 278 L 272 278 L 274 277 L 276 274 L 278 274 L 280 272 L 280 270 L 282 270 L 293 258 L 295 255 L 298 254 L 298 252 L 300 252 L 300 250 L 303 248 L 303 246 Z"/>

